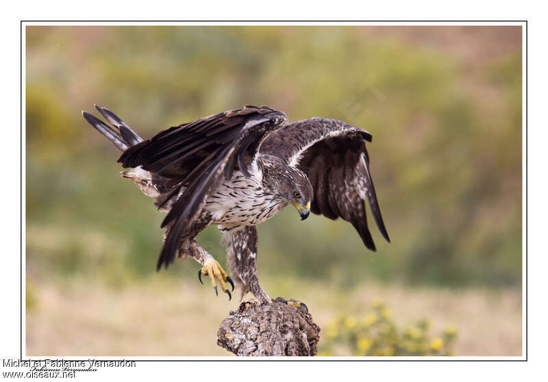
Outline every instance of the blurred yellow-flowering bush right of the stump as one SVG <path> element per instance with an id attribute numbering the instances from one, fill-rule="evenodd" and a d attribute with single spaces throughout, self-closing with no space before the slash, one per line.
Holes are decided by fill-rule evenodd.
<path id="1" fill-rule="evenodd" d="M 331 322 L 318 355 L 454 355 L 457 328 L 451 325 L 438 337 L 431 337 L 429 329 L 426 319 L 399 329 L 390 309 L 375 301 L 373 311 L 362 320 L 347 316 Z"/>

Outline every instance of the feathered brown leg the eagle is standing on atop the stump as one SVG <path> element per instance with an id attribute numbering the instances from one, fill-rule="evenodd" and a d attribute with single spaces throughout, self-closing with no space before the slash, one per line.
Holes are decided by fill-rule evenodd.
<path id="1" fill-rule="evenodd" d="M 222 229 L 223 245 L 227 249 L 227 259 L 236 283 L 242 287 L 242 298 L 251 292 L 262 303 L 272 300 L 259 282 L 257 274 L 257 229 L 255 226 Z"/>

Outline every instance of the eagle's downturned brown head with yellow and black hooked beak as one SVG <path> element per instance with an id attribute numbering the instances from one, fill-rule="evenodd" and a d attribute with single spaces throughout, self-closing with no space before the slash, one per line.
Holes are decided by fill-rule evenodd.
<path id="1" fill-rule="evenodd" d="M 308 218 L 314 191 L 306 174 L 299 168 L 286 166 L 279 180 L 278 191 L 280 196 L 289 205 L 294 205 L 297 208 L 301 220 Z"/>

